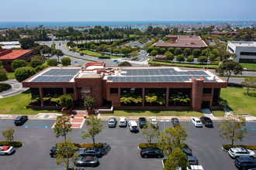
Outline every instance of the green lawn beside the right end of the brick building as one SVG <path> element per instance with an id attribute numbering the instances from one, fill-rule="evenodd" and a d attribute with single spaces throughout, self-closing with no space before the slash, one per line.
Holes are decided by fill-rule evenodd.
<path id="1" fill-rule="evenodd" d="M 227 89 L 221 89 L 220 97 L 228 101 L 228 107 L 235 113 L 256 116 L 256 92 L 251 91 L 246 96 L 244 88 L 227 87 Z"/>

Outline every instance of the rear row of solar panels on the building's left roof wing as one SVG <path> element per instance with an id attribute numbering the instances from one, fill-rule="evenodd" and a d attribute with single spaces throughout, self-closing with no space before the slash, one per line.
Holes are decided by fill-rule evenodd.
<path id="1" fill-rule="evenodd" d="M 74 76 L 80 69 L 50 69 L 43 76 Z"/>

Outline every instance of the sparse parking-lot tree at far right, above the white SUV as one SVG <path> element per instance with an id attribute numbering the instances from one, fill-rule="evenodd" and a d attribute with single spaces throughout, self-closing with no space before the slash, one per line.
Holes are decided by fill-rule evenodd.
<path id="1" fill-rule="evenodd" d="M 247 134 L 247 129 L 243 128 L 246 123 L 245 117 L 241 114 L 228 115 L 222 124 L 218 123 L 220 137 L 232 141 L 231 147 L 233 147 L 234 141 L 243 141 L 244 134 Z"/>

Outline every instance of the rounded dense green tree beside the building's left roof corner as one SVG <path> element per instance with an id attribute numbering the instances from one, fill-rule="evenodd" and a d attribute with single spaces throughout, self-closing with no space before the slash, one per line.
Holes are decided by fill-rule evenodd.
<path id="1" fill-rule="evenodd" d="M 16 80 L 19 83 L 22 83 L 23 80 L 28 79 L 30 76 L 33 76 L 36 73 L 36 70 L 31 67 L 21 67 L 15 70 L 14 75 Z"/>

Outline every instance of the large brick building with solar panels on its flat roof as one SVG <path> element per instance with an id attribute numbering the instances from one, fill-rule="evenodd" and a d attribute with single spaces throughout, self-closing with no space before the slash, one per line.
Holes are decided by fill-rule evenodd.
<path id="1" fill-rule="evenodd" d="M 87 96 L 95 98 L 96 108 L 115 109 L 192 109 L 217 108 L 216 100 L 227 82 L 209 70 L 180 70 L 178 67 L 106 67 L 105 63 L 85 63 L 82 67 L 52 66 L 22 82 L 32 94 L 70 94 L 74 105 L 82 105 Z M 147 103 L 155 93 L 165 104 Z M 121 95 L 140 96 L 137 104 L 121 103 Z M 187 103 L 173 100 L 186 97 Z M 135 97 L 136 98 L 136 97 Z M 47 108 L 47 107 L 46 107 Z"/>

